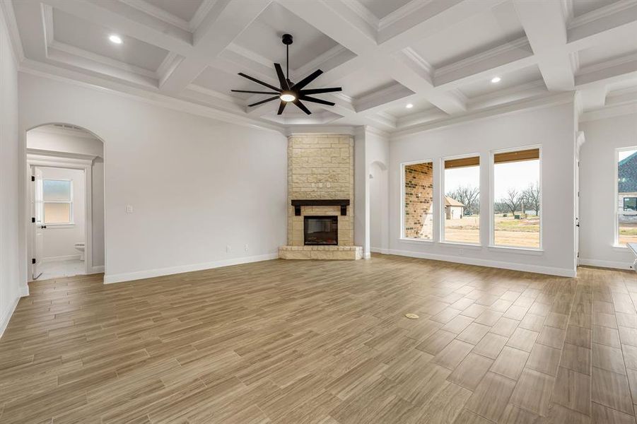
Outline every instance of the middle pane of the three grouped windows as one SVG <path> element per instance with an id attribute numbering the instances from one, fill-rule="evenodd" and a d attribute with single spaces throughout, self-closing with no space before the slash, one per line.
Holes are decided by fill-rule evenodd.
<path id="1" fill-rule="evenodd" d="M 443 240 L 480 242 L 480 157 L 447 159 L 443 191 Z"/>

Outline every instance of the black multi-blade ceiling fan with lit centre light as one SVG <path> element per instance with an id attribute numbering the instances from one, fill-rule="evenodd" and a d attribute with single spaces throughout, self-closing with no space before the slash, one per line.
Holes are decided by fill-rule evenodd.
<path id="1" fill-rule="evenodd" d="M 328 102 L 327 100 L 317 99 L 311 97 L 310 94 L 320 94 L 320 93 L 333 93 L 334 91 L 341 91 L 341 87 L 331 87 L 331 88 L 312 88 L 310 90 L 303 90 L 305 86 L 314 81 L 318 76 L 320 76 L 323 71 L 317 69 L 316 71 L 310 73 L 310 75 L 303 78 L 298 83 L 293 83 L 290 81 L 290 45 L 292 44 L 292 36 L 289 34 L 283 35 L 283 44 L 286 45 L 286 75 L 283 73 L 283 69 L 281 69 L 281 64 L 274 64 L 274 69 L 276 69 L 276 76 L 279 77 L 279 85 L 280 88 L 275 86 L 271 86 L 269 83 L 264 83 L 263 81 L 257 80 L 257 78 L 253 78 L 252 76 L 246 75 L 245 73 L 240 72 L 239 75 L 243 78 L 247 78 L 250 81 L 255 81 L 255 83 L 259 83 L 262 86 L 266 86 L 274 91 L 250 91 L 250 90 L 230 90 L 235 93 L 252 93 L 252 94 L 274 94 L 273 97 L 267 98 L 265 100 L 261 100 L 260 102 L 252 103 L 252 105 L 248 105 L 248 107 L 262 105 L 263 103 L 271 102 L 272 100 L 279 99 L 281 103 L 279 104 L 279 112 L 277 114 L 282 114 L 288 102 L 293 102 L 296 107 L 300 110 L 303 110 L 306 114 L 312 114 L 310 110 L 301 103 L 301 100 L 305 100 L 306 102 L 320 103 L 321 105 L 329 105 L 334 106 L 334 102 Z"/>

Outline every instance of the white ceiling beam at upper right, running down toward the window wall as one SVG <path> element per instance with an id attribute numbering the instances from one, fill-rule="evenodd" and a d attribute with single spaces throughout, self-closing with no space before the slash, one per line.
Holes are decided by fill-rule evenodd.
<path id="1" fill-rule="evenodd" d="M 575 78 L 566 48 L 566 17 L 561 1 L 513 0 L 518 18 L 537 58 L 544 83 L 551 91 L 573 90 Z"/>

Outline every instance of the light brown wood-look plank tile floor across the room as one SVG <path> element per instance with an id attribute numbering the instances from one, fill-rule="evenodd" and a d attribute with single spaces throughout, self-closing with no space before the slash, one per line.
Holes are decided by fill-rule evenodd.
<path id="1" fill-rule="evenodd" d="M 0 423 L 635 423 L 628 271 L 375 255 L 30 293 Z"/>

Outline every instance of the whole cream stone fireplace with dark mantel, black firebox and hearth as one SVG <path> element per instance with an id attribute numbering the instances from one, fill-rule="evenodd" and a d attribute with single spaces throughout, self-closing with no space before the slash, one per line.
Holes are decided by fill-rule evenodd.
<path id="1" fill-rule="evenodd" d="M 288 244 L 279 257 L 361 259 L 363 248 L 353 245 L 353 194 L 352 136 L 289 136 Z"/>

